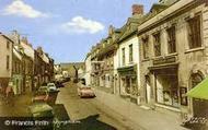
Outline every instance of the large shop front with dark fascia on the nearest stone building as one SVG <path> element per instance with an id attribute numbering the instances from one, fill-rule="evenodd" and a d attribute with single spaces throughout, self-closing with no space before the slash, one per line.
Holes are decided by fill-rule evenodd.
<path id="1" fill-rule="evenodd" d="M 155 103 L 166 107 L 180 107 L 177 64 L 150 68 L 154 75 Z"/>

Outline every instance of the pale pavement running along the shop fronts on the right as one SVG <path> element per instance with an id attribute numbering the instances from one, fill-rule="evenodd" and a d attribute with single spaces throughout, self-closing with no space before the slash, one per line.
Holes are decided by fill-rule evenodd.
<path id="1" fill-rule="evenodd" d="M 143 109 L 140 106 L 94 87 L 96 99 L 145 130 L 189 130 L 181 126 L 180 115 Z"/>

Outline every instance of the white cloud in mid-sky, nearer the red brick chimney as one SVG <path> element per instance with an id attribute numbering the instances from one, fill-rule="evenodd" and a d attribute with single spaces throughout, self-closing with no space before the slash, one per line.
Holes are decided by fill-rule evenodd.
<path id="1" fill-rule="evenodd" d="M 61 29 L 67 33 L 90 33 L 95 34 L 104 29 L 104 25 L 100 22 L 92 21 L 90 19 L 84 19 L 82 16 L 74 16 L 70 22 L 61 25 Z"/>

